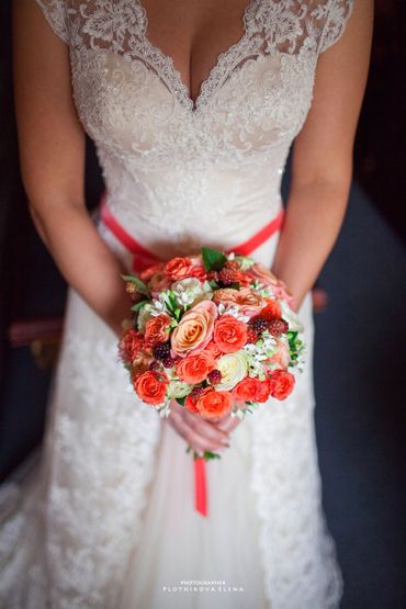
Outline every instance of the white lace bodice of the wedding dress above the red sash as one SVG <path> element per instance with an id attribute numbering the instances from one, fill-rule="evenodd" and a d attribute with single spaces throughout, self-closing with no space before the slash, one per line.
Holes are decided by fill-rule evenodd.
<path id="1" fill-rule="evenodd" d="M 351 0 L 250 0 L 240 40 L 218 55 L 195 104 L 149 42 L 140 1 L 36 1 L 69 45 L 108 204 L 138 240 L 166 255 L 202 239 L 232 248 L 278 212 L 317 58 L 341 35 Z"/>

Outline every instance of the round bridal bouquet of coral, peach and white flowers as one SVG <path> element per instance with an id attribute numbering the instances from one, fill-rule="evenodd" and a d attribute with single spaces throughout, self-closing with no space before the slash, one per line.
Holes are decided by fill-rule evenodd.
<path id="1" fill-rule="evenodd" d="M 162 417 L 176 401 L 205 418 L 244 418 L 290 395 L 303 328 L 262 264 L 202 248 L 123 279 L 134 304 L 120 356 L 135 393 Z"/>

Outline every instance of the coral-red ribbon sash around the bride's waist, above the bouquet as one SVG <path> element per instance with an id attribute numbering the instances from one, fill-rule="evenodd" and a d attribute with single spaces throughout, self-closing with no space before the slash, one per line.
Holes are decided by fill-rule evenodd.
<path id="1" fill-rule="evenodd" d="M 105 193 L 102 194 L 101 202 L 100 202 L 100 218 L 103 222 L 104 226 L 114 235 L 114 237 L 120 241 L 120 244 L 125 248 L 125 250 L 132 257 L 132 269 L 135 272 L 140 272 L 144 269 L 156 264 L 158 262 L 165 261 L 166 259 L 173 256 L 172 252 L 168 252 L 168 255 L 162 256 L 162 251 L 157 251 L 155 248 L 150 248 L 145 244 L 142 244 L 133 234 L 131 234 L 125 226 L 124 223 L 120 222 L 117 216 L 112 212 L 110 206 L 106 203 L 106 195 Z M 202 246 L 211 246 L 217 247 L 225 251 L 226 253 L 235 252 L 240 256 L 250 256 L 251 252 L 260 248 L 267 240 L 270 239 L 273 235 L 278 234 L 284 221 L 284 210 L 280 206 L 277 214 L 274 214 L 268 222 L 262 224 L 262 226 L 257 229 L 255 233 L 249 234 L 247 238 L 243 240 L 236 240 L 235 245 L 232 247 L 223 247 L 222 244 L 213 244 L 212 236 L 207 234 L 205 236 L 206 241 L 201 243 L 199 246 L 190 244 L 189 251 L 184 253 L 196 253 L 196 251 Z M 176 222 L 176 219 L 173 219 Z M 173 245 L 173 244 L 172 244 Z"/>

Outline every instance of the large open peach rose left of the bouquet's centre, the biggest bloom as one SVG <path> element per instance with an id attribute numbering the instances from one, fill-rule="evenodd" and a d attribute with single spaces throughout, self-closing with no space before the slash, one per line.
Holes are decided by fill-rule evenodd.
<path id="1" fill-rule="evenodd" d="M 172 331 L 173 353 L 185 358 L 192 350 L 203 349 L 212 338 L 217 315 L 217 307 L 212 301 L 201 301 L 189 309 Z"/>

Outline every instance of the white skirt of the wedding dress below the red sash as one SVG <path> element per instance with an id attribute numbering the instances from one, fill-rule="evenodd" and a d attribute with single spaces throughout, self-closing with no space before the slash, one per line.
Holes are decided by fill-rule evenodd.
<path id="1" fill-rule="evenodd" d="M 277 243 L 252 257 L 270 266 Z M 314 441 L 309 293 L 300 317 L 307 363 L 295 392 L 248 415 L 206 464 L 203 517 L 185 441 L 136 397 L 117 338 L 70 289 L 41 458 L 20 487 L 2 489 L 0 607 L 336 607 L 340 577 Z"/>

